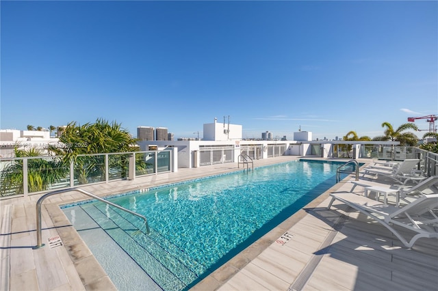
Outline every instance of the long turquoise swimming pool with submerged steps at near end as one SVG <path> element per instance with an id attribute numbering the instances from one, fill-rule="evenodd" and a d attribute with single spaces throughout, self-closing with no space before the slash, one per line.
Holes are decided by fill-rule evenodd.
<path id="1" fill-rule="evenodd" d="M 291 161 L 110 199 L 147 217 L 149 235 L 101 202 L 63 210 L 119 290 L 184 290 L 333 186 L 338 166 Z"/>

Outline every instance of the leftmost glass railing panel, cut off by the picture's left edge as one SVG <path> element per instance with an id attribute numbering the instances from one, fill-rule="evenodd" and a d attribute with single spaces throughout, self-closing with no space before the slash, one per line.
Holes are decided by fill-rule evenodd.
<path id="1" fill-rule="evenodd" d="M 23 159 L 0 162 L 0 196 L 23 194 Z"/>

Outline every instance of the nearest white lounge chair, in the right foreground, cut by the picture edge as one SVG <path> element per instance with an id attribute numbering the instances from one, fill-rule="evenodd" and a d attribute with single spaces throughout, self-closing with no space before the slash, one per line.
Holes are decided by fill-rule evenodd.
<path id="1" fill-rule="evenodd" d="M 419 238 L 438 238 L 438 194 L 424 195 L 402 208 L 376 202 L 374 199 L 350 192 L 331 193 L 332 199 L 371 217 L 390 230 L 405 247 L 411 248 Z M 416 234 L 408 241 L 393 225 L 411 230 Z"/>

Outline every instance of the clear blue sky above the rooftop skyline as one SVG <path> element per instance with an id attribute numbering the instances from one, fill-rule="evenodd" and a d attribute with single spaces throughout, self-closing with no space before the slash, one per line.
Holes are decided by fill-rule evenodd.
<path id="1" fill-rule="evenodd" d="M 103 118 L 196 137 L 230 116 L 248 138 L 334 139 L 438 113 L 437 1 L 0 5 L 1 129 Z"/>

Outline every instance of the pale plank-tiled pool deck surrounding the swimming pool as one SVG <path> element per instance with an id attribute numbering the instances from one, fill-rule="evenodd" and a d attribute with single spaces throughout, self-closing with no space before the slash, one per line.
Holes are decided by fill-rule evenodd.
<path id="1" fill-rule="evenodd" d="M 256 160 L 255 167 L 297 158 Z M 237 170 L 242 171 L 242 165 L 218 164 L 81 189 L 106 196 Z M 192 290 L 438 290 L 437 239 L 422 238 L 407 249 L 385 227 L 343 204 L 335 202 L 326 209 L 329 193 L 350 191 L 350 179 L 322 193 Z M 46 245 L 33 249 L 39 197 L 0 200 L 0 290 L 116 290 L 60 210 L 59 205 L 88 198 L 81 193 L 44 200 Z M 58 235 L 62 246 L 51 248 L 48 238 Z"/>

